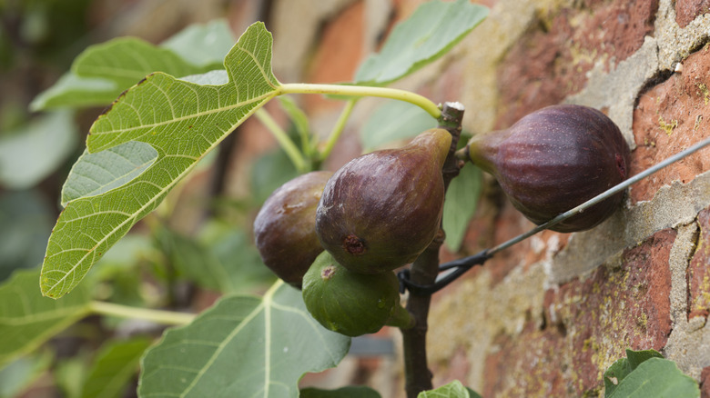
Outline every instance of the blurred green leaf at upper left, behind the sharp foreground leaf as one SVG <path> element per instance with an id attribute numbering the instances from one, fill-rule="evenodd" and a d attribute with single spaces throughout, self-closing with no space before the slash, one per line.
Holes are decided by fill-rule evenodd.
<path id="1" fill-rule="evenodd" d="M 84 107 L 110 104 L 131 85 L 152 72 L 173 76 L 221 69 L 234 37 L 224 20 L 191 25 L 163 44 L 121 37 L 86 48 L 72 70 L 37 95 L 30 107 Z"/>

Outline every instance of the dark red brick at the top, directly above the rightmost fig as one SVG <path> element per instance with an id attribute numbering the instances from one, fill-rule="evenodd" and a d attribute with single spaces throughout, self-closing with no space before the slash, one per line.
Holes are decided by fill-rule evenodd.
<path id="1" fill-rule="evenodd" d="M 579 92 L 595 62 L 609 68 L 634 54 L 653 32 L 657 9 L 658 0 L 587 1 L 541 20 L 501 63 L 496 128 Z"/>

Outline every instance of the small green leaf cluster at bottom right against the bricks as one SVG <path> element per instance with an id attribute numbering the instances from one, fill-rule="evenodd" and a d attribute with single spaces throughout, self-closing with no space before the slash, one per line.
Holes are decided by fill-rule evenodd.
<path id="1" fill-rule="evenodd" d="M 654 350 L 626 350 L 622 358 L 604 372 L 606 398 L 673 396 L 695 398 L 700 389 L 695 380 L 678 369 L 673 361 Z"/>

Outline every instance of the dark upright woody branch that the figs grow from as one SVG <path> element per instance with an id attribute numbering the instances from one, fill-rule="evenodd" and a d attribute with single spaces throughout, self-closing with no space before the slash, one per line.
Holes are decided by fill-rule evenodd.
<path id="1" fill-rule="evenodd" d="M 461 136 L 463 111 L 462 104 L 445 103 L 441 108 L 441 117 L 438 118 L 439 127 L 451 134 L 451 148 L 441 169 L 444 190 L 448 188 L 451 179 L 458 175 L 460 170 L 460 162 L 453 153 Z M 439 274 L 439 249 L 443 244 L 444 236 L 440 227 L 433 242 L 411 264 L 410 277 L 413 284 L 428 285 L 436 281 Z M 416 398 L 422 391 L 433 388 L 426 351 L 427 317 L 429 316 L 431 294 L 410 293 L 407 299 L 407 311 L 411 313 L 414 325 L 411 328 L 401 328 L 400 330 L 404 351 L 405 390 L 408 398 Z"/>

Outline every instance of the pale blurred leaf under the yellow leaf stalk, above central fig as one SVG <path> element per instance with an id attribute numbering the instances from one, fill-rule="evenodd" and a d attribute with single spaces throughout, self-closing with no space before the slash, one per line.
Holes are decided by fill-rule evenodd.
<path id="1" fill-rule="evenodd" d="M 392 141 L 411 138 L 436 127 L 436 119 L 419 106 L 403 101 L 388 101 L 362 126 L 360 140 L 366 152 Z"/>

